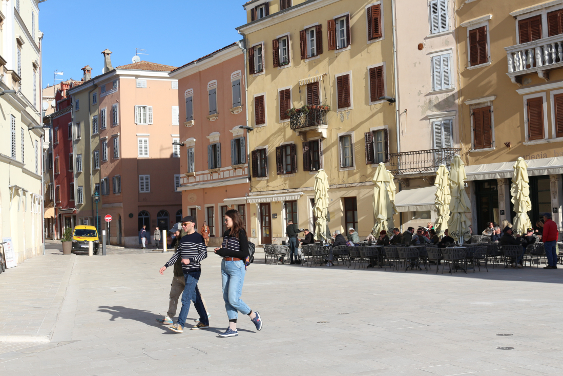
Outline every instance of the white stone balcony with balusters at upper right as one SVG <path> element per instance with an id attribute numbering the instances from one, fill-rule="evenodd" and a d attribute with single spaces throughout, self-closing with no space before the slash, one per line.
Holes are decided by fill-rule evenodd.
<path id="1" fill-rule="evenodd" d="M 563 34 L 505 47 L 508 59 L 508 77 L 522 85 L 524 74 L 538 73 L 549 81 L 549 70 L 563 67 Z"/>

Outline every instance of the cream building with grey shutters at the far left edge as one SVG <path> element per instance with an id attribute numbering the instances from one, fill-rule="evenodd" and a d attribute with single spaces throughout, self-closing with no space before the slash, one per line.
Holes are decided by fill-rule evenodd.
<path id="1" fill-rule="evenodd" d="M 43 253 L 38 3 L 0 4 L 0 240 L 11 242 L 16 263 Z"/>

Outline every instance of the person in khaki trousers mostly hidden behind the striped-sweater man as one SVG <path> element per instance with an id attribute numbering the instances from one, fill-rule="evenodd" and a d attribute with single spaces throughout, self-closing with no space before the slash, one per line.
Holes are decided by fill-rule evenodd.
<path id="1" fill-rule="evenodd" d="M 182 224 L 176 223 L 172 226 L 170 230 L 172 234 L 172 242 L 170 244 L 171 247 L 174 248 L 174 251 L 178 249 L 178 245 L 180 245 L 180 240 L 182 237 L 186 235 L 186 232 L 182 230 Z M 162 319 L 157 319 L 159 324 L 163 325 L 172 325 L 174 324 L 173 319 L 176 315 L 176 310 L 178 308 L 178 300 L 180 299 L 180 295 L 184 292 L 186 287 L 186 280 L 184 279 L 184 272 L 182 271 L 182 260 L 178 258 L 178 260 L 174 263 L 174 276 L 172 277 L 172 284 L 170 285 L 170 298 L 168 303 L 168 312 L 166 316 L 162 317 Z M 192 296 L 191 301 L 195 304 L 196 302 L 196 295 L 201 294 L 199 293 L 198 286 L 195 286 L 196 294 Z M 211 313 L 209 313 L 209 309 L 205 305 L 205 299 L 202 298 L 203 307 L 205 308 L 205 312 L 207 312 L 207 318 L 211 317 Z M 205 329 L 206 326 L 202 321 L 199 321 L 198 324 L 193 326 L 191 329 Z M 207 325 L 209 328 L 209 325 Z"/>

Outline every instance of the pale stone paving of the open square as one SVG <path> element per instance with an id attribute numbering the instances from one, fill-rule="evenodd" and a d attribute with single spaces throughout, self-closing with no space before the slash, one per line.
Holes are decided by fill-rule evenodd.
<path id="1" fill-rule="evenodd" d="M 171 254 L 52 253 L 0 275 L 0 335 L 42 333 L 33 307 L 64 295 L 51 342 L 0 343 L 2 376 L 563 374 L 561 269 L 435 275 L 257 260 L 243 299 L 263 329 L 239 317 L 239 336 L 219 338 L 228 323 L 216 255 L 199 284 L 211 328 L 174 334 L 155 324 L 172 279 L 158 269 Z M 195 323 L 193 307 L 188 317 Z"/>

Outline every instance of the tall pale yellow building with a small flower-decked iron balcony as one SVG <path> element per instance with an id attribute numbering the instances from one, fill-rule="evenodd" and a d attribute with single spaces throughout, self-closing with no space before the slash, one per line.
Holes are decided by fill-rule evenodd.
<path id="1" fill-rule="evenodd" d="M 254 0 L 244 8 L 248 23 L 237 29 L 254 129 L 249 233 L 259 244 L 278 242 L 289 219 L 312 231 L 314 178 L 324 169 L 330 230 L 367 236 L 371 179 L 397 149 L 391 0 Z"/>

